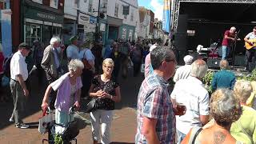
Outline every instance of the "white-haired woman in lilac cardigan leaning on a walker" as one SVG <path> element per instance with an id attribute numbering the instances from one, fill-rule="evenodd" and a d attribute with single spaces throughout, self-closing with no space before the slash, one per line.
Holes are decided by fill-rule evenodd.
<path id="1" fill-rule="evenodd" d="M 78 59 L 72 59 L 68 65 L 69 72 L 62 75 L 56 81 L 52 82 L 46 89 L 45 96 L 42 100 L 42 109 L 46 109 L 48 106 L 48 98 L 50 91 L 58 90 L 58 94 L 55 101 L 55 121 L 57 124 L 66 126 L 69 122 L 69 109 L 71 106 L 76 106 L 77 110 L 80 107 L 80 94 L 81 94 L 81 74 L 84 68 L 82 61 Z M 70 121 L 73 121 L 73 115 Z M 56 130 L 57 132 L 58 130 Z"/>

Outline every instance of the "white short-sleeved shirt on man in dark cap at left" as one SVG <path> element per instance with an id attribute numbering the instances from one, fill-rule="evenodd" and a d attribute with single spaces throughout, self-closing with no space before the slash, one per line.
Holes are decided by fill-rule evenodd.
<path id="1" fill-rule="evenodd" d="M 23 81 L 28 78 L 28 70 L 25 62 L 25 57 L 18 50 L 10 60 L 10 78 L 18 81 L 16 75 L 21 74 Z"/>

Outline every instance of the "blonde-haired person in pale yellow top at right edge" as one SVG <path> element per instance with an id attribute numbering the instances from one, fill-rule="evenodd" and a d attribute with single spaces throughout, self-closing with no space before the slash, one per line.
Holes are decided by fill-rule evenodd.
<path id="1" fill-rule="evenodd" d="M 234 94 L 242 106 L 242 115 L 237 122 L 232 123 L 230 133 L 238 141 L 246 144 L 256 143 L 256 110 L 246 106 L 252 90 L 249 81 L 239 80 L 234 84 Z"/>

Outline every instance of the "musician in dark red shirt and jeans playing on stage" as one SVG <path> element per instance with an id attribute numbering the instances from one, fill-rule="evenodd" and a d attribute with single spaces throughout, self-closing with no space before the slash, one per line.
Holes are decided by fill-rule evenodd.
<path id="1" fill-rule="evenodd" d="M 226 30 L 222 40 L 222 59 L 226 59 L 230 53 L 230 46 L 235 42 L 240 41 L 237 37 L 236 28 L 232 26 L 230 30 Z"/>

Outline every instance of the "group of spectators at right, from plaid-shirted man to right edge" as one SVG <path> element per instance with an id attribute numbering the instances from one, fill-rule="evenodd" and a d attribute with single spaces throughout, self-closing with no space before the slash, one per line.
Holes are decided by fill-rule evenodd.
<path id="1" fill-rule="evenodd" d="M 256 142 L 255 82 L 237 80 L 223 59 L 210 95 L 202 82 L 208 70 L 202 59 L 186 55 L 185 66 L 174 74 L 175 57 L 169 48 L 156 46 L 150 58 L 154 73 L 138 93 L 135 143 Z M 173 75 L 174 90 L 168 93 Z"/>

